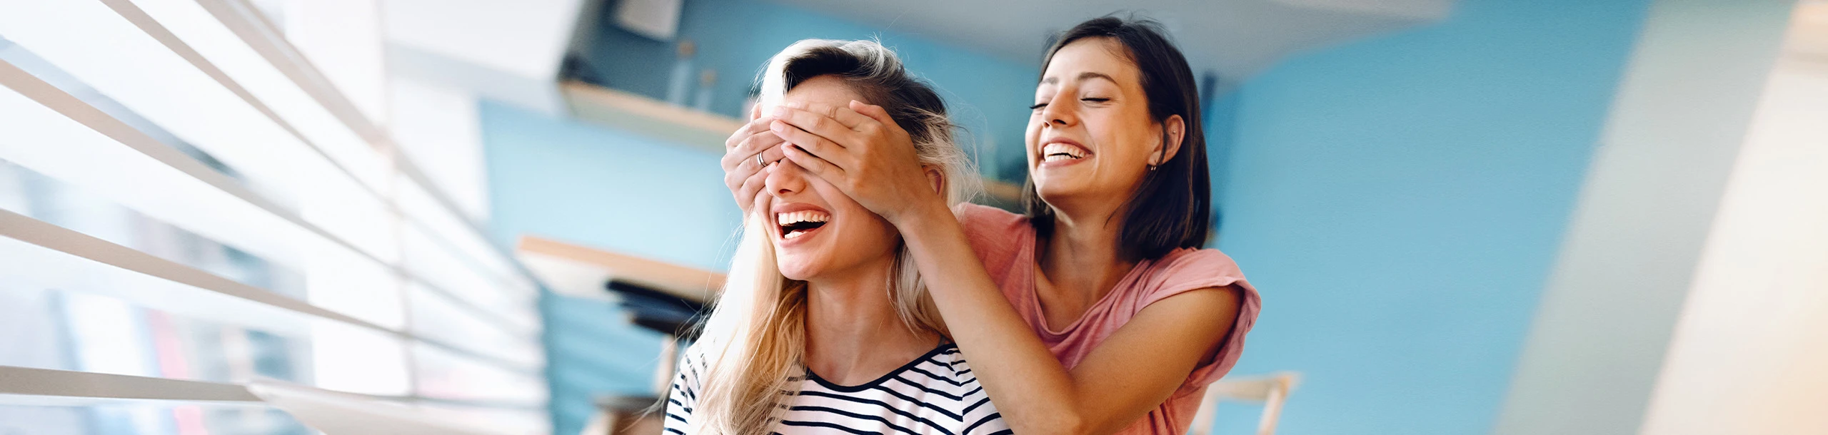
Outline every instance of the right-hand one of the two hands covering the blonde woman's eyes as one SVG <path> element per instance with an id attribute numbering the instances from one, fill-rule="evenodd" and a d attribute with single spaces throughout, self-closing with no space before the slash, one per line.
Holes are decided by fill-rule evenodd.
<path id="1" fill-rule="evenodd" d="M 881 106 L 848 108 L 786 102 L 770 113 L 786 159 L 819 175 L 892 225 L 945 208 L 941 177 L 919 163 L 914 139 Z M 951 216 L 951 214 L 947 214 Z"/>

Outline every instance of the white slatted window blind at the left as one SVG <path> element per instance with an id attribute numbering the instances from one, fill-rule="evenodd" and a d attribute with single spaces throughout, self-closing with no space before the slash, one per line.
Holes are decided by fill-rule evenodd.
<path id="1" fill-rule="evenodd" d="M 305 431 L 256 378 L 548 431 L 536 281 L 399 150 L 384 71 L 287 37 L 380 31 L 276 11 L 0 0 L 0 431 Z"/>

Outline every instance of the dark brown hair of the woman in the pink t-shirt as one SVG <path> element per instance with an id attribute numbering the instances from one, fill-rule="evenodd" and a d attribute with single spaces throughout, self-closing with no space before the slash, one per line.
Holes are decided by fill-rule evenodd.
<path id="1" fill-rule="evenodd" d="M 1146 18 L 1099 16 L 1057 35 L 1042 73 L 1053 55 L 1068 44 L 1086 38 L 1110 38 L 1124 48 L 1130 64 L 1137 68 L 1142 93 L 1148 97 L 1150 119 L 1164 122 L 1181 115 L 1186 133 L 1181 150 L 1142 175 L 1135 196 L 1119 210 L 1124 227 L 1117 238 L 1117 254 L 1124 260 L 1161 258 L 1174 249 L 1201 247 L 1212 227 L 1212 179 L 1206 174 L 1206 133 L 1201 128 L 1199 88 L 1194 69 L 1181 49 L 1164 37 L 1161 24 Z M 1170 141 L 1166 124 L 1163 141 Z M 1168 146 L 1164 144 L 1163 150 Z M 1040 236 L 1053 232 L 1053 208 L 1035 192 L 1035 177 L 1027 177 L 1022 205 L 1033 218 Z"/>

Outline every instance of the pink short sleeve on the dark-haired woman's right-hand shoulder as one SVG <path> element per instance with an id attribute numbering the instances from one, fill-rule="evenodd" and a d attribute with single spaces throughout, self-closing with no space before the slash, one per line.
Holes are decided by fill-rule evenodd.
<path id="1" fill-rule="evenodd" d="M 1232 366 L 1238 366 L 1238 356 L 1245 349 L 1245 334 L 1256 325 L 1263 302 L 1256 287 L 1245 281 L 1245 274 L 1238 269 L 1238 263 L 1217 249 L 1181 249 L 1157 260 L 1152 269 L 1155 271 L 1150 271 L 1148 276 L 1148 294 L 1137 303 L 1137 311 L 1188 291 L 1230 285 L 1243 292 L 1238 320 L 1232 324 L 1232 331 L 1225 336 L 1225 342 L 1212 355 L 1201 358 L 1199 366 L 1194 367 L 1186 382 L 1175 391 L 1175 395 L 1197 393 L 1199 387 L 1223 378 L 1225 373 L 1232 371 Z"/>

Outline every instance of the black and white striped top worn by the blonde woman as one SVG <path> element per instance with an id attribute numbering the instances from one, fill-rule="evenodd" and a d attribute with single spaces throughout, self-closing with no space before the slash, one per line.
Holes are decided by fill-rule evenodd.
<path id="1" fill-rule="evenodd" d="M 698 404 L 698 373 L 706 371 L 696 345 L 686 349 L 680 375 L 667 395 L 665 433 L 691 435 Z M 901 433 L 1007 435 L 1009 426 L 965 366 L 958 345 L 940 347 L 861 386 L 837 386 L 812 371 L 788 378 L 799 393 L 786 398 L 777 435 Z"/>

